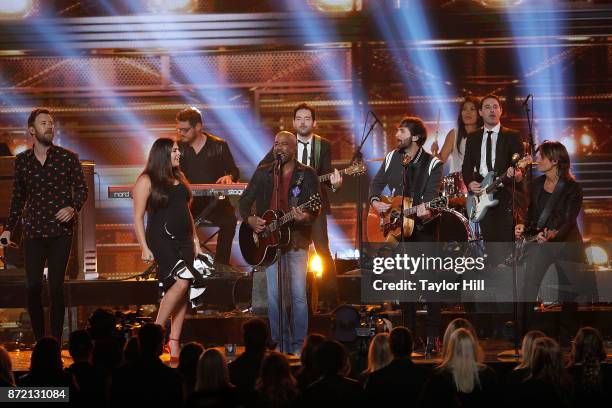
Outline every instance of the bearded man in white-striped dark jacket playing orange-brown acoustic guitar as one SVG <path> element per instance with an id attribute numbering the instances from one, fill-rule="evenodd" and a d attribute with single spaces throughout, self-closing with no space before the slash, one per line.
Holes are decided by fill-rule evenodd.
<path id="1" fill-rule="evenodd" d="M 443 163 L 423 149 L 427 140 L 427 128 L 421 119 L 410 116 L 403 118 L 395 138 L 397 148 L 387 154 L 370 184 L 370 204 L 384 218 L 391 204 L 384 202 L 381 194 L 388 187 L 392 196 L 404 198 L 404 207 L 411 204 L 411 208 L 416 208 L 412 233 L 406 236 L 405 223 L 400 221 L 398 241 L 435 242 L 437 222 L 431 221 L 432 212 L 427 203 L 439 196 Z M 415 304 L 402 303 L 402 309 L 405 324 L 415 333 Z M 429 303 L 427 310 L 427 336 L 436 338 L 440 335 L 440 303 Z"/>

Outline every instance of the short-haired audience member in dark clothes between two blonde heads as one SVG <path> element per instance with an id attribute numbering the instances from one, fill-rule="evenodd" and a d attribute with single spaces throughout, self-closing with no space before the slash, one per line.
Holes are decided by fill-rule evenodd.
<path id="1" fill-rule="evenodd" d="M 389 335 L 393 361 L 388 366 L 371 373 L 365 384 L 365 406 L 393 406 L 398 392 L 413 398 L 416 406 L 430 372 L 412 361 L 412 333 L 406 327 L 398 326 Z"/>

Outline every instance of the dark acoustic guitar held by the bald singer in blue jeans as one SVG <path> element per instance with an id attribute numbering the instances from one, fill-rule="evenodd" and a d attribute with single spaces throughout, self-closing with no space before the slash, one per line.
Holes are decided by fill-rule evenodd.
<path id="1" fill-rule="evenodd" d="M 307 202 L 297 208 L 318 211 L 321 208 L 321 196 L 318 193 L 313 194 Z M 255 232 L 248 222 L 243 221 L 238 233 L 240 252 L 245 261 L 253 266 L 268 266 L 276 260 L 278 247 L 289 244 L 291 240 L 288 224 L 295 217 L 293 212 L 285 214 L 281 210 L 268 210 L 261 218 L 266 221 L 262 232 Z"/>

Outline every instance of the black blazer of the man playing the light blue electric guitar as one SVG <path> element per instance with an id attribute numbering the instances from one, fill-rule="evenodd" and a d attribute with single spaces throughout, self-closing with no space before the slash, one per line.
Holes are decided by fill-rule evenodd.
<path id="1" fill-rule="evenodd" d="M 480 182 L 483 179 L 478 172 L 480 169 L 480 147 L 482 145 L 483 134 L 484 128 L 480 127 L 478 130 L 470 133 L 465 142 L 465 155 L 461 172 L 466 186 L 472 181 Z M 493 171 L 498 175 L 504 174 L 512 164 L 512 155 L 514 153 L 518 153 L 521 157 L 525 154 L 521 136 L 516 130 L 502 126 L 497 135 Z"/>

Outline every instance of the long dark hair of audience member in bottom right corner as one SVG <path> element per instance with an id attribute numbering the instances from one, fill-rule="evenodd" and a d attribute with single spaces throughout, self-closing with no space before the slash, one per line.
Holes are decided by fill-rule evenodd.
<path id="1" fill-rule="evenodd" d="M 576 334 L 572 363 L 582 364 L 582 385 L 592 391 L 601 389 L 601 362 L 606 361 L 606 347 L 597 329 L 583 327 Z"/>

